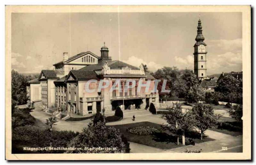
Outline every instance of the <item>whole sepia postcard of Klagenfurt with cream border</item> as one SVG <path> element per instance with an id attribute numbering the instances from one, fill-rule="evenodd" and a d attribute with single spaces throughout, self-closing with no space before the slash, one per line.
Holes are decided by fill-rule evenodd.
<path id="1" fill-rule="evenodd" d="M 250 17 L 6 6 L 6 159 L 251 159 Z"/>

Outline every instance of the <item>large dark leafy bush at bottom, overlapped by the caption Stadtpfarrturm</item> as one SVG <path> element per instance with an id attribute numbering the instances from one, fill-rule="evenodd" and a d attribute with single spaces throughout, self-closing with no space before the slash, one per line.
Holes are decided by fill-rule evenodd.
<path id="1" fill-rule="evenodd" d="M 107 128 L 105 122 L 92 123 L 84 128 L 68 145 L 83 150 L 69 150 L 68 153 L 126 153 L 130 151 L 128 141 L 119 130 Z M 92 149 L 92 148 L 95 149 Z M 100 149 L 98 149 L 100 147 Z"/>

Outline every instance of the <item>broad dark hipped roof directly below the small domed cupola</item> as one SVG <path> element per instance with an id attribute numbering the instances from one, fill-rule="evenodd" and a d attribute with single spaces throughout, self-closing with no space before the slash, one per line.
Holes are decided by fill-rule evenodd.
<path id="1" fill-rule="evenodd" d="M 102 66 L 105 64 L 105 62 L 100 62 L 98 64 L 94 64 L 94 65 L 88 65 L 84 68 L 81 68 L 79 70 L 101 70 Z M 132 68 L 133 70 L 139 70 L 140 68 L 134 67 L 130 64 L 124 63 L 122 61 L 108 61 L 108 67 L 110 67 L 110 69 L 121 69 L 123 67 L 129 67 Z"/>

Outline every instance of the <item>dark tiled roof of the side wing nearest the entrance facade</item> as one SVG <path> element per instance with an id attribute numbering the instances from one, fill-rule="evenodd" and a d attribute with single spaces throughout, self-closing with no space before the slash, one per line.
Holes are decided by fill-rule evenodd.
<path id="1" fill-rule="evenodd" d="M 92 70 L 70 70 L 70 72 L 75 76 L 76 80 L 99 79 L 97 74 Z"/>

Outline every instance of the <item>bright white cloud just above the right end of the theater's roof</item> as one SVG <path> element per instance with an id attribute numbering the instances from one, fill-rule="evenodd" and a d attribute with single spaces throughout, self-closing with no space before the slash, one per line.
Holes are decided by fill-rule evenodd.
<path id="1" fill-rule="evenodd" d="M 138 57 L 135 57 L 135 56 L 131 56 L 128 58 L 128 60 L 124 61 L 130 65 L 133 65 L 135 67 L 139 67 L 140 64 L 144 64 L 144 65 L 147 65 L 148 69 L 152 72 L 156 71 L 157 69 L 160 69 L 160 68 L 163 68 L 163 65 L 160 65 L 160 64 L 157 64 L 153 61 L 150 61 L 150 62 L 146 62 Z"/>

